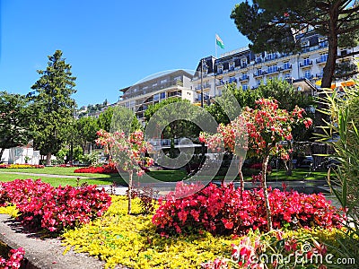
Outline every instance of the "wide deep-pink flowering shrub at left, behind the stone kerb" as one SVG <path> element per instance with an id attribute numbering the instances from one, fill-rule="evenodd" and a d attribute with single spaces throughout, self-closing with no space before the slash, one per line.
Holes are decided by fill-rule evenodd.
<path id="1" fill-rule="evenodd" d="M 0 201 L 15 204 L 24 225 L 55 231 L 101 216 L 109 208 L 110 196 L 93 185 L 54 188 L 39 179 L 15 179 L 1 184 Z"/>

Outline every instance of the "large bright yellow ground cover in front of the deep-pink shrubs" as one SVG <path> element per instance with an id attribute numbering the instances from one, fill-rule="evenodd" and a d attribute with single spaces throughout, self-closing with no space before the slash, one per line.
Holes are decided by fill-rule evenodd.
<path id="1" fill-rule="evenodd" d="M 114 268 L 116 265 L 136 269 L 188 269 L 201 268 L 201 266 L 220 268 L 205 267 L 205 265 L 208 261 L 215 261 L 217 257 L 218 260 L 231 259 L 233 247 L 240 247 L 244 242 L 241 237 L 218 236 L 204 230 L 162 237 L 151 223 L 152 215 L 139 214 L 141 207 L 138 198 L 133 199 L 132 210 L 134 214 L 127 215 L 126 197 L 112 196 L 112 204 L 101 218 L 76 230 L 67 230 L 63 234 L 66 250 L 73 247 L 76 252 L 101 256 L 106 262 L 106 268 Z M 282 237 L 288 242 L 292 238 L 297 239 L 298 242 L 306 240 L 313 242 L 312 240 L 316 239 L 320 246 L 325 241 L 328 245 L 340 247 L 336 241 L 338 233 L 340 231 L 337 229 L 299 229 L 286 230 Z M 258 232 L 250 232 L 248 237 L 254 242 L 261 235 Z M 279 240 L 272 242 L 272 238 L 271 235 L 263 235 L 260 239 L 261 246 L 276 245 Z M 267 252 L 269 254 L 270 248 L 267 248 Z M 328 252 L 336 255 L 332 249 L 328 249 Z"/>

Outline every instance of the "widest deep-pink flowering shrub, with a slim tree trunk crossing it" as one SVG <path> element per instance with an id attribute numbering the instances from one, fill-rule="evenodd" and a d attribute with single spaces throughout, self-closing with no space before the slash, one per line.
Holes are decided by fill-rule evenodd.
<path id="1" fill-rule="evenodd" d="M 183 188 L 183 186 L 180 186 Z M 242 198 L 241 198 L 242 195 Z M 340 227 L 342 218 L 324 195 L 305 195 L 296 191 L 268 192 L 275 228 Z M 233 185 L 210 184 L 194 195 L 175 199 L 167 195 L 153 215 L 153 224 L 163 235 L 207 230 L 213 234 L 245 234 L 250 229 L 267 230 L 263 189 L 234 189 Z"/>

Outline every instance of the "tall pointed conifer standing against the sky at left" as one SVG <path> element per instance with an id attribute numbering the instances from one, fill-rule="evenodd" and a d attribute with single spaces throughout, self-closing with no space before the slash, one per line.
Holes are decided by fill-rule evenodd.
<path id="1" fill-rule="evenodd" d="M 71 124 L 75 102 L 71 95 L 74 90 L 75 77 L 71 65 L 66 64 L 62 51 L 57 50 L 48 56 L 46 70 L 38 70 L 41 75 L 31 89 L 37 91 L 33 98 L 36 109 L 34 118 L 34 143 L 41 154 L 47 156 L 51 163 L 51 154 L 57 153 L 66 140 L 66 129 Z"/>

